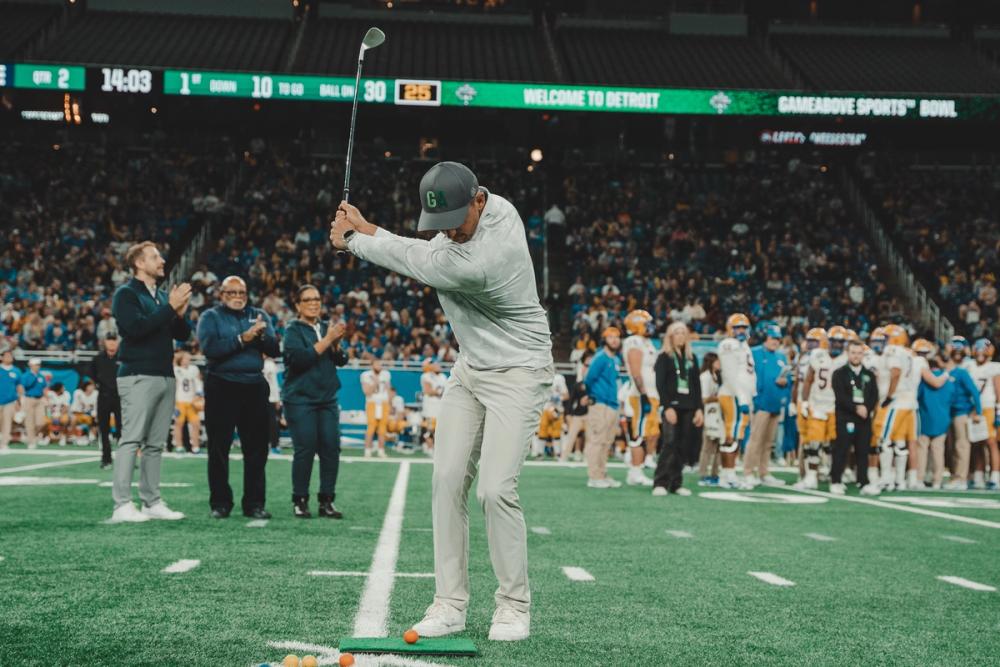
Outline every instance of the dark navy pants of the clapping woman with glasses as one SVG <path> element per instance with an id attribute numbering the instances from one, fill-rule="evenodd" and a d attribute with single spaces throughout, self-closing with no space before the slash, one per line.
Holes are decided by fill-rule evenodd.
<path id="1" fill-rule="evenodd" d="M 319 454 L 319 496 L 331 502 L 340 468 L 340 406 L 337 403 L 285 403 L 292 432 L 292 499 L 309 496 L 313 459 Z"/>

